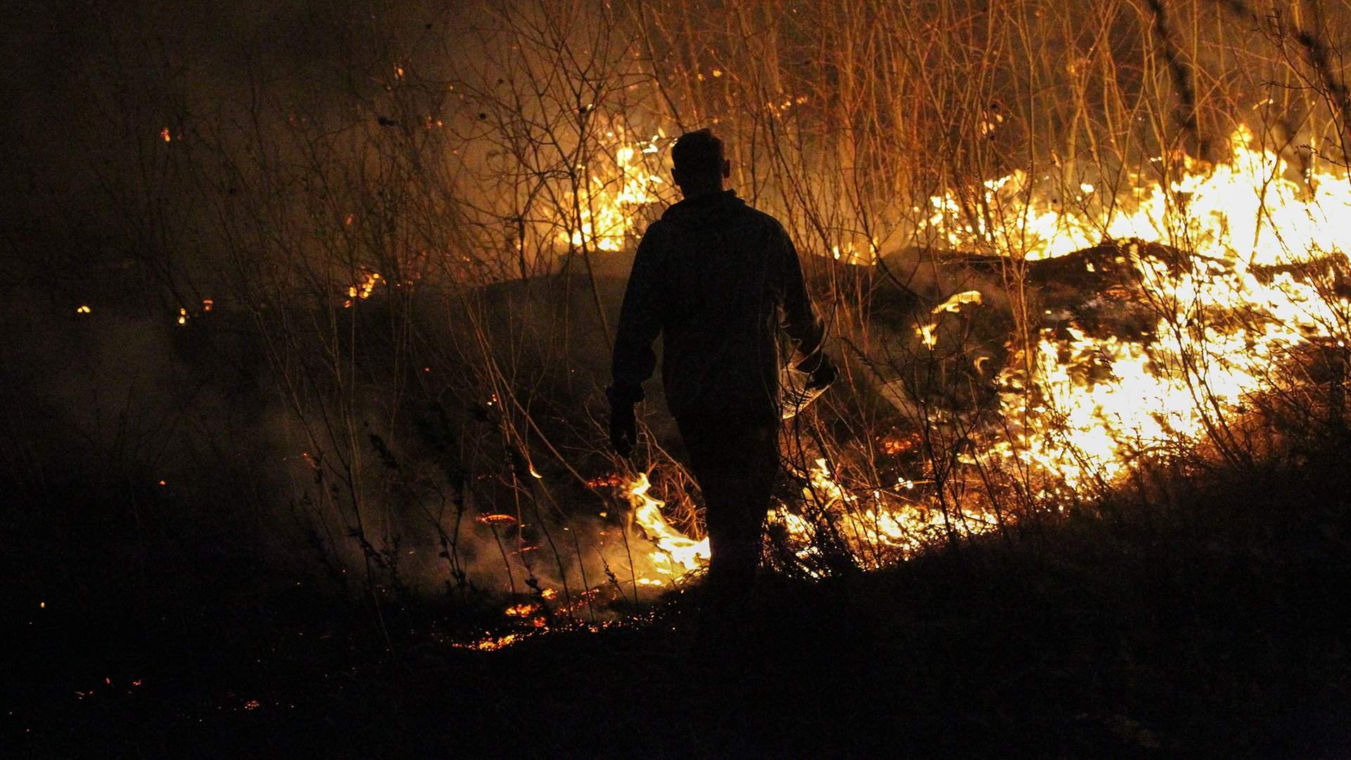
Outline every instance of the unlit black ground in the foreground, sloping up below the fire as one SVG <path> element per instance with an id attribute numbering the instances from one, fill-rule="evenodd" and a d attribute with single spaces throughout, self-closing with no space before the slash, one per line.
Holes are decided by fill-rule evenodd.
<path id="1" fill-rule="evenodd" d="M 497 652 L 450 646 L 430 604 L 386 613 L 386 644 L 304 588 L 97 618 L 5 599 L 4 755 L 1348 757 L 1340 461 L 777 580 L 721 661 L 690 653 L 694 592 Z"/>

